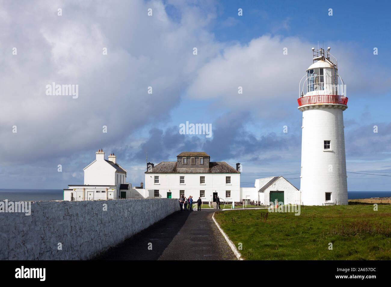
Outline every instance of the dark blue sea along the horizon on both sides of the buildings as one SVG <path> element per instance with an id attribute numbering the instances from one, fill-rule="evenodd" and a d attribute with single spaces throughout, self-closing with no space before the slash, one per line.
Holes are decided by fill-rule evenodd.
<path id="1" fill-rule="evenodd" d="M 391 191 L 348 191 L 348 199 L 391 197 Z M 0 200 L 63 200 L 62 189 L 0 189 Z"/>

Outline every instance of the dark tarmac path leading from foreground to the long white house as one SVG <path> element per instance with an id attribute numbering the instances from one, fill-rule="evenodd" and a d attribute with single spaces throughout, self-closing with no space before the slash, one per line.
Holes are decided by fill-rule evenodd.
<path id="1" fill-rule="evenodd" d="M 214 209 L 174 212 L 94 260 L 233 260 Z M 148 250 L 148 243 L 152 250 Z M 189 251 L 189 248 L 191 251 Z"/>

